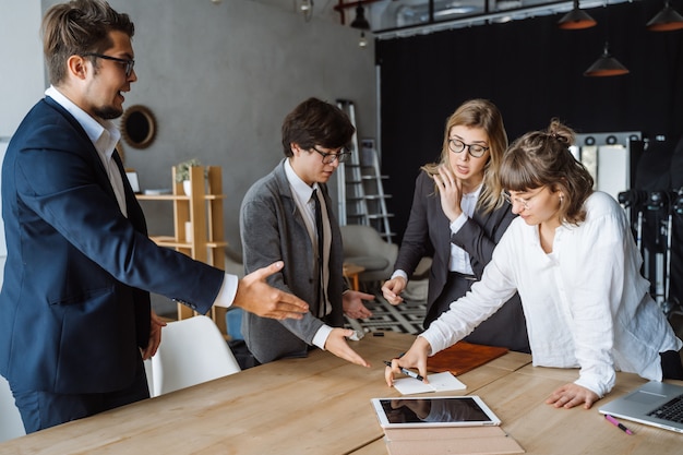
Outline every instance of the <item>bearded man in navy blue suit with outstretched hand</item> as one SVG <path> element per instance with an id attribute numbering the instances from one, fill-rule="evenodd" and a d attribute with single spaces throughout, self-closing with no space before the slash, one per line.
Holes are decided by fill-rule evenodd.
<path id="1" fill-rule="evenodd" d="M 137 79 L 133 31 L 127 14 L 100 0 L 47 11 L 52 85 L 2 165 L 0 373 L 26 432 L 149 396 L 143 359 L 155 354 L 165 325 L 149 291 L 201 313 L 214 303 L 276 319 L 308 311 L 265 284 L 281 263 L 238 283 L 147 238 L 110 120 Z"/>

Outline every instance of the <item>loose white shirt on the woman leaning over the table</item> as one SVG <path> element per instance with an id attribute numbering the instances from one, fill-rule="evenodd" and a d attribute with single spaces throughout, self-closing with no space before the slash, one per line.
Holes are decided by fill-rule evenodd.
<path id="1" fill-rule="evenodd" d="M 465 337 L 518 290 L 534 366 L 578 367 L 575 383 L 601 397 L 614 385 L 615 370 L 660 381 L 659 352 L 680 350 L 682 343 L 648 294 L 623 208 L 596 192 L 586 209 L 579 226 L 556 228 L 550 254 L 538 226 L 515 218 L 481 282 L 421 335 L 431 355 Z"/>

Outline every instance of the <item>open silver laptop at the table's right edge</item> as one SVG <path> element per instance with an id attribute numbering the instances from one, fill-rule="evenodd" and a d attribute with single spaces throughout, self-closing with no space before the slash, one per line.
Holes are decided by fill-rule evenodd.
<path id="1" fill-rule="evenodd" d="M 683 386 L 650 381 L 598 410 L 621 419 L 683 433 Z"/>

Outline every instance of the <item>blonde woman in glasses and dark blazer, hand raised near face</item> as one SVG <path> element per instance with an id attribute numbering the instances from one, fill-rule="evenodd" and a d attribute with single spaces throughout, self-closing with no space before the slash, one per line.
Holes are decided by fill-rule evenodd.
<path id="1" fill-rule="evenodd" d="M 448 118 L 439 163 L 422 167 L 394 273 L 383 286 L 392 304 L 423 256 L 432 256 L 423 325 L 481 279 L 501 236 L 514 218 L 498 172 L 507 135 L 500 110 L 486 99 L 462 104 Z M 529 352 L 518 296 L 483 322 L 467 342 Z"/>

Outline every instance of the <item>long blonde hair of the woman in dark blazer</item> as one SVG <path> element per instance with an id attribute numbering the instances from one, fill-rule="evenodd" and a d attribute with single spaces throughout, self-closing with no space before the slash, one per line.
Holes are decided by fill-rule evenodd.
<path id="1" fill-rule="evenodd" d="M 457 125 L 480 128 L 487 133 L 490 153 L 489 160 L 483 168 L 483 189 L 477 201 L 477 206 L 483 208 L 484 212 L 502 206 L 504 200 L 501 196 L 502 187 L 498 173 L 503 154 L 507 148 L 507 133 L 503 124 L 503 116 L 501 116 L 498 107 L 488 99 L 467 100 L 448 117 L 439 163 L 427 164 L 421 169 L 428 173 L 434 173 L 439 166 L 450 163 L 448 135 L 451 129 Z"/>

